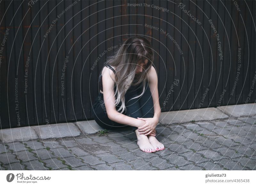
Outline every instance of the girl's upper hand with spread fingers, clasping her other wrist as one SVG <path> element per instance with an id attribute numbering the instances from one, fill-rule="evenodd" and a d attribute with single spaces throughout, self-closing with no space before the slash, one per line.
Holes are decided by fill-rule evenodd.
<path id="1" fill-rule="evenodd" d="M 139 134 L 145 134 L 145 136 L 151 134 L 155 130 L 158 124 L 157 118 L 138 118 L 138 119 L 146 121 L 145 125 L 138 127 L 138 131 L 140 132 Z"/>

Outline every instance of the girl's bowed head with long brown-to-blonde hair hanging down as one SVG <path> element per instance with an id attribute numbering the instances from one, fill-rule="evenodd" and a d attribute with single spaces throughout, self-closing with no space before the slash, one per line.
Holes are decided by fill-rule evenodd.
<path id="1" fill-rule="evenodd" d="M 105 65 L 113 66 L 116 70 L 114 80 L 116 105 L 122 102 L 122 106 L 118 109 L 118 111 L 122 110 L 121 113 L 125 109 L 124 95 L 130 86 L 137 86 L 143 82 L 143 91 L 137 97 L 144 93 L 153 60 L 153 49 L 149 41 L 141 36 L 128 38 L 112 56 L 107 58 Z"/>

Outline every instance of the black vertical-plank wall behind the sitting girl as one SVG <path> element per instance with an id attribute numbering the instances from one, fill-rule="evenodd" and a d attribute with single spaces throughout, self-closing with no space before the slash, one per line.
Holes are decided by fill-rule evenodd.
<path id="1" fill-rule="evenodd" d="M 255 1 L 1 1 L 0 21 L 1 128 L 92 120 L 103 63 L 134 35 L 162 112 L 255 102 Z"/>

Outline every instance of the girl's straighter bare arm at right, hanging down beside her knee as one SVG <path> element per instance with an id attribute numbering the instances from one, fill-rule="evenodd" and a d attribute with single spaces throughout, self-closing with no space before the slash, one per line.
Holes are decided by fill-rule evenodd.
<path id="1" fill-rule="evenodd" d="M 159 105 L 157 82 L 158 80 L 157 80 L 156 69 L 152 66 L 148 74 L 148 83 L 149 83 L 149 88 L 150 88 L 150 92 L 152 94 L 153 103 L 154 103 L 154 118 L 156 118 L 156 120 L 158 121 L 161 114 L 161 107 Z"/>

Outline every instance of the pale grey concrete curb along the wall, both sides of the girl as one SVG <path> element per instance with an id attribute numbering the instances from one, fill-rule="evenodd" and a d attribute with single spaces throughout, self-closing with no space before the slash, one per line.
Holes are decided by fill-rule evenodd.
<path id="1" fill-rule="evenodd" d="M 187 123 L 193 121 L 222 120 L 229 117 L 256 116 L 256 104 L 228 105 L 218 108 L 201 108 L 182 111 L 162 112 L 159 122 L 164 125 Z M 32 139 L 49 139 L 75 137 L 95 134 L 101 128 L 95 120 L 58 123 L 31 127 L 7 128 L 0 130 L 0 140 L 4 143 L 28 141 Z"/>

